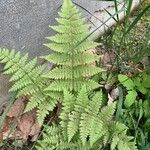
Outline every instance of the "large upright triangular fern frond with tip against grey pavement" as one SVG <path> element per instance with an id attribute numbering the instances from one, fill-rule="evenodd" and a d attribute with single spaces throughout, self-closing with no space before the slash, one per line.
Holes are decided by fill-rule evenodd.
<path id="1" fill-rule="evenodd" d="M 89 34 L 88 25 L 71 0 L 64 0 L 59 16 L 56 19 L 59 25 L 50 27 L 57 34 L 47 38 L 52 43 L 45 44 L 53 53 L 43 58 L 58 65 L 44 75 L 45 78 L 54 80 L 45 90 L 62 92 L 65 88 L 77 92 L 83 84 L 89 90 L 99 87 L 98 83 L 90 79 L 103 71 L 92 65 L 99 56 L 88 52 L 98 44 L 90 39 L 83 41 Z"/>

